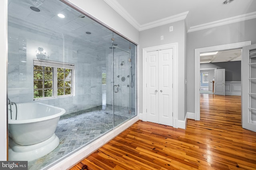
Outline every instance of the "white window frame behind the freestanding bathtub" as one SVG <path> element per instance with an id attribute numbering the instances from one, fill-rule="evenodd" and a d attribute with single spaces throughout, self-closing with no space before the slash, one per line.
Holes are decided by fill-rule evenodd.
<path id="1" fill-rule="evenodd" d="M 53 73 L 52 73 L 52 93 L 53 96 L 51 97 L 42 97 L 42 98 L 34 98 L 34 100 L 45 100 L 45 99 L 50 99 L 50 98 L 62 98 L 62 97 L 67 97 L 67 96 L 75 96 L 75 88 L 74 88 L 74 74 L 75 74 L 75 65 L 71 63 L 62 63 L 62 62 L 57 62 L 57 61 L 48 61 L 48 60 L 40 60 L 40 59 L 34 59 L 33 60 L 33 66 L 47 66 L 47 67 L 52 67 L 53 68 Z M 58 96 L 58 78 L 57 78 L 57 68 L 64 68 L 64 69 L 71 69 L 72 70 L 72 75 L 71 75 L 71 94 L 67 95 L 61 95 Z M 34 72 L 34 70 L 33 70 Z M 34 74 L 33 74 L 34 75 Z M 65 78 L 66 80 L 66 78 Z M 34 83 L 34 78 L 33 78 L 33 83 Z M 34 88 L 33 88 L 33 93 L 34 93 Z"/>

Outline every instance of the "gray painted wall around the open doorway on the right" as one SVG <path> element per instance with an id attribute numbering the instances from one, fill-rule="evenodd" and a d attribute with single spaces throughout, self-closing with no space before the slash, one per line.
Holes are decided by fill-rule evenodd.
<path id="1" fill-rule="evenodd" d="M 222 25 L 187 34 L 187 111 L 195 112 L 195 49 L 243 41 L 256 43 L 256 19 Z M 199 73 L 198 73 L 199 74 Z"/>

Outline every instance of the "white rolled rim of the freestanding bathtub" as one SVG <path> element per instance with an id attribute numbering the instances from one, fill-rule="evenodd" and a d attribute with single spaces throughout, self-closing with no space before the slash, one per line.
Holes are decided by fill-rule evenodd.
<path id="1" fill-rule="evenodd" d="M 44 105 L 47 107 L 52 107 L 52 108 L 58 109 L 58 110 L 60 110 L 60 112 L 58 112 L 54 115 L 50 115 L 50 116 L 45 116 L 45 117 L 40 117 L 40 118 L 35 118 L 35 119 L 26 119 L 26 120 L 14 120 L 14 119 L 10 119 L 8 117 L 8 124 L 23 124 L 23 123 L 34 123 L 34 122 L 38 122 L 38 121 L 45 121 L 45 120 L 53 119 L 55 117 L 59 117 L 66 113 L 66 110 L 63 108 L 48 105 L 48 104 L 42 104 L 39 102 L 27 102 L 27 103 L 18 103 L 18 104 L 40 104 L 40 105 Z"/>

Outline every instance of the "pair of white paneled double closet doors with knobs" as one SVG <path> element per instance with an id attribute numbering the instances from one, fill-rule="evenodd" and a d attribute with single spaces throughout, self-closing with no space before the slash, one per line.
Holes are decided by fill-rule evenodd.
<path id="1" fill-rule="evenodd" d="M 173 49 L 147 53 L 147 121 L 172 126 Z"/>

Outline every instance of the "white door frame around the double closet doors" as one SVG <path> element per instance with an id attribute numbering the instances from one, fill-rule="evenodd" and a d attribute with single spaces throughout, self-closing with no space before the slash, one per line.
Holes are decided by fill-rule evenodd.
<path id="1" fill-rule="evenodd" d="M 147 121 L 147 94 L 146 94 L 146 78 L 147 78 L 147 63 L 146 56 L 150 51 L 163 49 L 173 49 L 173 116 L 172 127 L 178 128 L 178 43 L 147 47 L 142 49 L 142 121 Z"/>

